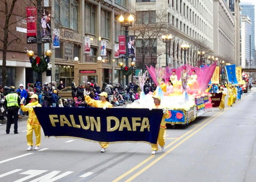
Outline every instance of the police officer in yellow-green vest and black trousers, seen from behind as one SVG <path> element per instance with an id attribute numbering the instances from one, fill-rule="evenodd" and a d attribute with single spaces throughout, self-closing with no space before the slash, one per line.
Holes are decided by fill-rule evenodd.
<path id="1" fill-rule="evenodd" d="M 18 134 L 18 111 L 21 106 L 20 102 L 21 99 L 18 94 L 11 88 L 10 93 L 6 96 L 4 101 L 4 106 L 7 110 L 6 134 L 10 133 L 12 123 L 14 123 L 14 134 Z"/>

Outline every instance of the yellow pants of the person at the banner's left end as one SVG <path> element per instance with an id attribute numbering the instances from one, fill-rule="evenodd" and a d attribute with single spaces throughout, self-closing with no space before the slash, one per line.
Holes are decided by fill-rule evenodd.
<path id="1" fill-rule="evenodd" d="M 33 130 L 36 134 L 36 146 L 41 145 L 41 126 L 27 123 L 27 145 L 33 146 Z"/>

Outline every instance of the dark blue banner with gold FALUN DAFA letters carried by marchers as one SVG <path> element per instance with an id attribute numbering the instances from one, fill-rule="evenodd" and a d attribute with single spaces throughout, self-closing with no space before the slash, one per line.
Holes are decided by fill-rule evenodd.
<path id="1" fill-rule="evenodd" d="M 45 136 L 156 144 L 161 109 L 35 107 Z"/>

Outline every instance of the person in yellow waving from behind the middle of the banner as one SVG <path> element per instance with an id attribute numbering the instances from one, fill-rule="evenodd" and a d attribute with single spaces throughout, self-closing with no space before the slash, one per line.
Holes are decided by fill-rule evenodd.
<path id="1" fill-rule="evenodd" d="M 90 95 L 90 92 L 87 94 Z M 103 108 L 104 110 L 106 108 L 112 108 L 112 104 L 107 101 L 107 92 L 103 91 L 99 94 L 99 96 L 101 96 L 100 101 L 91 99 L 90 96 L 86 95 L 86 91 L 84 91 L 84 96 L 85 96 L 85 102 L 90 106 Z M 100 142 L 100 144 L 101 144 L 101 153 L 104 153 L 106 151 L 106 148 L 108 147 L 109 142 Z"/>

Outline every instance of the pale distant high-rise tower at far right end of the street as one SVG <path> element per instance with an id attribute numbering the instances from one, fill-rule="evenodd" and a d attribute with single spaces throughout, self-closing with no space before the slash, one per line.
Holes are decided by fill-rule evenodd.
<path id="1" fill-rule="evenodd" d="M 241 16 L 241 66 L 251 67 L 251 27 L 252 23 L 248 16 Z"/>

